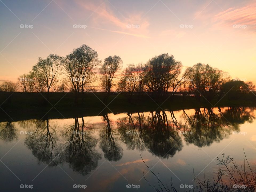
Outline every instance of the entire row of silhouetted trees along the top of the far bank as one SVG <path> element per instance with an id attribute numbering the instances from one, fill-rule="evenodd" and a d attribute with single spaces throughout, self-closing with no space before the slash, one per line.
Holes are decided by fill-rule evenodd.
<path id="1" fill-rule="evenodd" d="M 0 89 L 16 91 L 19 86 L 24 92 L 85 92 L 100 87 L 107 95 L 115 89 L 129 93 L 147 91 L 157 97 L 174 95 L 180 90 L 209 101 L 229 92 L 230 97 L 241 97 L 254 89 L 252 82 L 230 80 L 227 73 L 202 63 L 181 73 L 182 63 L 168 54 L 155 56 L 145 64 L 129 64 L 121 72 L 122 63 L 116 55 L 102 63 L 95 49 L 82 45 L 66 57 L 39 57 L 32 71 L 19 76 L 18 83 L 6 81 Z"/>

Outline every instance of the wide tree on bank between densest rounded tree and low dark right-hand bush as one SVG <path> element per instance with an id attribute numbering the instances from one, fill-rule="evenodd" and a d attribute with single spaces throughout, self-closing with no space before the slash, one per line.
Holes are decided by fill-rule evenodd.
<path id="1" fill-rule="evenodd" d="M 221 85 L 229 80 L 225 72 L 202 63 L 188 67 L 185 73 L 186 84 L 198 100 L 203 96 L 211 101 L 221 91 Z"/>

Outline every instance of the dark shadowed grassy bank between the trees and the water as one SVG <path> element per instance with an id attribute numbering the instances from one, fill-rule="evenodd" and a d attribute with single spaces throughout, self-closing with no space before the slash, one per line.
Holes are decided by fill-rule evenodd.
<path id="1" fill-rule="evenodd" d="M 135 113 L 155 110 L 180 110 L 198 107 L 256 106 L 255 99 L 229 100 L 223 97 L 209 103 L 204 98 L 174 96 L 159 100 L 146 93 L 138 97 L 127 93 L 111 93 L 103 104 L 105 93 L 10 93 L 0 92 L 0 121 L 23 119 L 54 119 L 93 116 L 105 113 Z M 75 99 L 77 98 L 77 99 Z M 256 97 L 255 97 L 256 98 Z M 167 99 L 167 100 L 166 100 Z M 3 103 L 3 104 L 2 104 Z M 54 107 L 53 107 L 54 106 Z M 107 106 L 107 107 L 106 107 Z M 161 106 L 161 107 L 159 107 Z M 103 111 L 102 111 L 103 110 Z"/>

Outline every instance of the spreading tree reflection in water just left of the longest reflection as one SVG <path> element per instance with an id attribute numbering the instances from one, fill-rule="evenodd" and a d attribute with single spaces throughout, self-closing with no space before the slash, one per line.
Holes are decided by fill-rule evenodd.
<path id="1" fill-rule="evenodd" d="M 56 166 L 60 162 L 57 149 L 56 127 L 49 125 L 49 120 L 35 122 L 36 129 L 33 134 L 26 135 L 25 144 L 32 150 L 32 154 L 39 162 L 46 162 L 49 166 Z"/>

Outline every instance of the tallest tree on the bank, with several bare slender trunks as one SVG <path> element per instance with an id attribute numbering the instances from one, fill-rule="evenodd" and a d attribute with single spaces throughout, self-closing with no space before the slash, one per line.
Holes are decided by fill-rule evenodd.
<path id="1" fill-rule="evenodd" d="M 96 80 L 95 68 L 100 63 L 97 51 L 85 44 L 67 55 L 64 70 L 73 86 L 71 90 L 77 92 L 81 87 L 81 91 L 84 92 L 85 87 Z"/>

